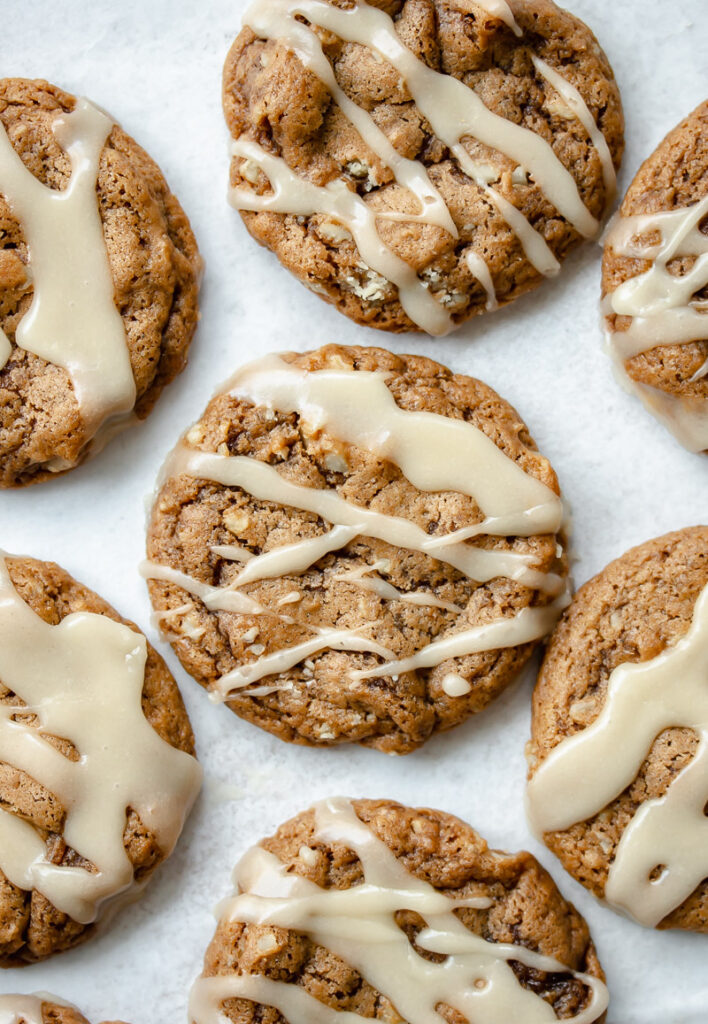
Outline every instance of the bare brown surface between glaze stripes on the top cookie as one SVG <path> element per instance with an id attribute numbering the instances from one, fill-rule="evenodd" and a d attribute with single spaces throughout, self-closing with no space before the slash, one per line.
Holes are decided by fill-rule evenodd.
<path id="1" fill-rule="evenodd" d="M 575 182 L 587 211 L 602 218 L 612 202 L 609 165 L 618 167 L 622 157 L 623 116 L 612 69 L 585 25 L 550 0 L 511 0 L 519 37 L 473 0 L 381 0 L 376 6 L 392 17 L 398 37 L 425 68 L 463 82 L 489 111 L 548 143 L 550 159 L 554 155 L 570 173 L 571 187 Z M 381 242 L 414 268 L 451 326 L 484 312 L 491 296 L 492 305 L 505 304 L 543 280 L 503 210 L 490 200 L 490 183 L 538 231 L 551 259 L 563 261 L 579 244 L 581 233 L 559 214 L 553 197 L 500 152 L 501 142 L 496 148 L 465 137 L 476 168 L 472 180 L 391 63 L 329 30 L 320 30 L 318 38 L 338 87 L 371 116 L 400 156 L 425 169 L 452 215 L 457 239 L 432 223 L 380 216 L 377 221 Z M 605 172 L 587 128 L 540 74 L 535 58 L 580 93 L 609 147 Z M 256 142 L 282 157 L 301 179 L 321 186 L 344 182 L 379 214 L 391 209 L 418 213 L 415 196 L 363 139 L 328 86 L 282 40 L 259 38 L 257 31 L 244 28 L 226 57 L 223 105 L 234 139 Z M 267 174 L 243 155 L 233 158 L 231 181 L 268 195 Z M 397 287 L 367 265 L 350 230 L 336 217 L 247 209 L 242 216 L 259 243 L 351 319 L 389 331 L 419 329 L 403 308 Z M 480 261 L 490 274 L 487 286 L 473 272 Z"/>

